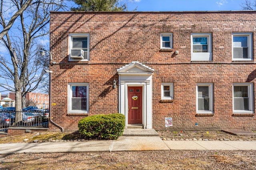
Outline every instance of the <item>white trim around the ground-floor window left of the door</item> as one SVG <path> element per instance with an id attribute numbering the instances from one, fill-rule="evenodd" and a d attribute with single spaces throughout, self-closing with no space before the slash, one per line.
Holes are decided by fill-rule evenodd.
<path id="1" fill-rule="evenodd" d="M 72 110 L 72 102 L 71 102 L 71 99 L 72 99 L 72 86 L 86 86 L 86 103 L 87 103 L 87 110 L 81 110 L 81 111 L 73 111 Z M 89 83 L 68 83 L 68 113 L 89 113 Z"/>

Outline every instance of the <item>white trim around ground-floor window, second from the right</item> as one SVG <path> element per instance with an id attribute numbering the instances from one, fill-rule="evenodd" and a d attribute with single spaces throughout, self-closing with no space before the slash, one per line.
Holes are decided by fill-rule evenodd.
<path id="1" fill-rule="evenodd" d="M 198 110 L 198 86 L 208 86 L 209 87 L 209 105 L 210 110 Z M 213 111 L 213 83 L 196 83 L 196 113 L 214 113 Z"/>

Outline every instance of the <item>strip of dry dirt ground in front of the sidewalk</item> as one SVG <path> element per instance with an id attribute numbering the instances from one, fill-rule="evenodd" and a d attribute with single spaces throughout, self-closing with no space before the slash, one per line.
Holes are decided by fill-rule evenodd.
<path id="1" fill-rule="evenodd" d="M 255 170 L 256 151 L 170 150 L 0 155 L 1 170 Z"/>

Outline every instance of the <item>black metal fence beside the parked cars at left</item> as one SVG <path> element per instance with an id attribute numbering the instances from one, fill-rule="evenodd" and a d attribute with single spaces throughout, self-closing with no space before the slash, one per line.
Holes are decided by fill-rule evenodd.
<path id="1" fill-rule="evenodd" d="M 48 127 L 48 111 L 0 111 L 0 130 L 7 127 Z"/>

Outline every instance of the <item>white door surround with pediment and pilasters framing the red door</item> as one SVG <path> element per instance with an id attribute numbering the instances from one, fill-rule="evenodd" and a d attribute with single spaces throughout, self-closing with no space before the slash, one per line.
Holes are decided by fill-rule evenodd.
<path id="1" fill-rule="evenodd" d="M 142 86 L 142 124 L 144 129 L 152 129 L 152 74 L 154 69 L 133 61 L 117 70 L 119 74 L 119 113 L 125 115 L 128 125 L 128 86 Z"/>

